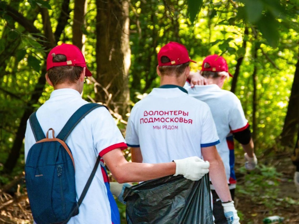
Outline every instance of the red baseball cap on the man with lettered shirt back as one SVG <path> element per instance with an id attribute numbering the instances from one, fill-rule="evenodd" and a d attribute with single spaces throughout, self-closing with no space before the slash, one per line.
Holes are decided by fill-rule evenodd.
<path id="1" fill-rule="evenodd" d="M 161 57 L 167 56 L 170 59 L 170 62 L 162 63 Z M 187 48 L 177 42 L 169 42 L 164 45 L 158 53 L 158 65 L 181 65 L 186 62 L 195 62 L 189 58 Z M 196 63 L 196 62 L 195 62 Z"/>

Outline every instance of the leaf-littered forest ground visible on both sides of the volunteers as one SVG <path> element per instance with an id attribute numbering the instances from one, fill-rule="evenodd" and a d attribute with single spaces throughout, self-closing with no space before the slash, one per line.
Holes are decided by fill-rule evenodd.
<path id="1" fill-rule="evenodd" d="M 299 223 L 299 193 L 293 176 L 295 167 L 287 153 L 259 160 L 256 170 L 248 172 L 241 161 L 237 167 L 237 192 L 235 205 L 242 224 L 261 224 L 268 216 L 278 215 L 283 223 Z M 32 223 L 30 205 L 19 175 L 1 187 L 0 223 Z M 119 205 L 122 224 L 125 224 L 125 207 Z"/>

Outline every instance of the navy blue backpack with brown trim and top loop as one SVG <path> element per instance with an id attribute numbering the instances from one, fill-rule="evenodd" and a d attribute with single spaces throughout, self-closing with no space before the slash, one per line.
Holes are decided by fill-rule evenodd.
<path id="1" fill-rule="evenodd" d="M 79 206 L 86 195 L 100 162 L 100 156 L 77 201 L 75 187 L 75 164 L 71 150 L 65 143 L 71 131 L 100 104 L 89 103 L 80 107 L 54 138 L 50 128 L 45 136 L 36 118 L 30 115 L 29 122 L 36 143 L 30 148 L 25 164 L 25 180 L 32 216 L 37 224 L 64 224 L 79 213 Z M 52 131 L 53 138 L 48 138 Z"/>

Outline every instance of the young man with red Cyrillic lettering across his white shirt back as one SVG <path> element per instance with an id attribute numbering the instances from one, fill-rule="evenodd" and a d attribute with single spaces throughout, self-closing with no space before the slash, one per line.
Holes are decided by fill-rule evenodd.
<path id="1" fill-rule="evenodd" d="M 182 88 L 190 62 L 194 61 L 184 45 L 170 42 L 161 48 L 157 66 L 161 86 L 132 108 L 126 142 L 133 162 L 170 162 L 190 156 L 210 162 L 210 179 L 223 202 L 228 223 L 239 223 L 215 147 L 219 138 L 210 108 Z"/>

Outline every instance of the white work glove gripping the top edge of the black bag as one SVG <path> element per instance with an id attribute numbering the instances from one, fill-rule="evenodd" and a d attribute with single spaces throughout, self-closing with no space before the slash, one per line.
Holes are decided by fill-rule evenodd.
<path id="1" fill-rule="evenodd" d="M 173 162 L 176 163 L 176 173 L 173 176 L 181 174 L 186 179 L 196 181 L 209 172 L 210 163 L 197 156 L 176 159 Z"/>

